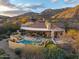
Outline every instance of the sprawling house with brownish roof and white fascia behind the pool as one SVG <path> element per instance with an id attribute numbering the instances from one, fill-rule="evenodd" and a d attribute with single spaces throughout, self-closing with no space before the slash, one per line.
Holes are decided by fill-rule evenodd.
<path id="1" fill-rule="evenodd" d="M 65 29 L 44 20 L 35 21 L 30 25 L 22 24 L 21 30 L 24 32 L 24 35 L 31 32 L 31 34 L 29 34 L 30 36 L 50 37 L 53 42 L 55 42 L 55 40 L 65 32 Z"/>

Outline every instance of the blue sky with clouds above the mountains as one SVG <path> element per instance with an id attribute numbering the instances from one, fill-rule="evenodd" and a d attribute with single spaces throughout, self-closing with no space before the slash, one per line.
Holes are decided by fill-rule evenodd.
<path id="1" fill-rule="evenodd" d="M 0 15 L 17 16 L 26 12 L 40 13 L 79 5 L 79 0 L 0 0 Z"/>

